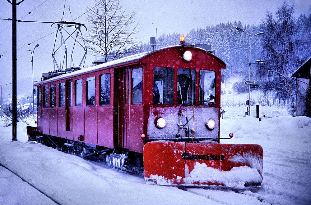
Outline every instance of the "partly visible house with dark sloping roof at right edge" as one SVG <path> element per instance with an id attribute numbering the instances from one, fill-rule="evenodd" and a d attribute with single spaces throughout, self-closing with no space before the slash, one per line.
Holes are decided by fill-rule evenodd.
<path id="1" fill-rule="evenodd" d="M 296 97 L 296 116 L 311 117 L 311 57 L 298 68 L 292 77 L 296 78 L 298 88 Z"/>

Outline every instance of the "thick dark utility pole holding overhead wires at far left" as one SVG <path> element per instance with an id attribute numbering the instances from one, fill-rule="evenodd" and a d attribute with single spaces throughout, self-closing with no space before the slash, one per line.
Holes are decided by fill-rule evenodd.
<path id="1" fill-rule="evenodd" d="M 24 0 L 16 3 L 16 0 L 9 1 L 12 4 L 12 141 L 16 141 L 17 124 L 17 93 L 16 93 L 16 6 Z"/>

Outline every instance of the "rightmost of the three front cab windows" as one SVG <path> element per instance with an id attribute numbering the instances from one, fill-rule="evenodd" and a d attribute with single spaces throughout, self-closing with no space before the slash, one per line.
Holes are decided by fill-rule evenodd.
<path id="1" fill-rule="evenodd" d="M 215 72 L 200 70 L 200 105 L 215 106 Z"/>

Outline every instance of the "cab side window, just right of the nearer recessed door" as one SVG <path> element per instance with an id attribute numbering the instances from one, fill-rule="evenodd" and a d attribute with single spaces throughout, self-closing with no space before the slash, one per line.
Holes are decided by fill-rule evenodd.
<path id="1" fill-rule="evenodd" d="M 132 104 L 142 104 L 142 68 L 132 70 Z"/>

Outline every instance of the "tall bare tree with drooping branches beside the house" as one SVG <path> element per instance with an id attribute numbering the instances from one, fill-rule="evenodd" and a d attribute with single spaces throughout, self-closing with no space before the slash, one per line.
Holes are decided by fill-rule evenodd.
<path id="1" fill-rule="evenodd" d="M 296 85 L 291 74 L 301 64 L 296 56 L 298 45 L 294 39 L 294 8 L 294 5 L 284 2 L 277 8 L 275 17 L 267 13 L 266 21 L 262 22 L 266 34 L 263 50 L 265 65 L 258 69 L 262 82 L 265 82 L 265 93 L 276 91 L 280 100 L 289 99 L 292 116 L 296 110 Z"/>

